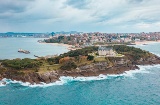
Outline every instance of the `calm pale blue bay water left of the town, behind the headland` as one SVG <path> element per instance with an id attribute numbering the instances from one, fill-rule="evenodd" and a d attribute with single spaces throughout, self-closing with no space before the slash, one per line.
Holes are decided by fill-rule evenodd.
<path id="1" fill-rule="evenodd" d="M 41 44 L 38 40 L 40 38 L 0 38 L 0 59 L 34 58 L 34 55 L 55 55 L 68 51 L 66 47 Z M 18 53 L 20 48 L 31 53 Z"/>

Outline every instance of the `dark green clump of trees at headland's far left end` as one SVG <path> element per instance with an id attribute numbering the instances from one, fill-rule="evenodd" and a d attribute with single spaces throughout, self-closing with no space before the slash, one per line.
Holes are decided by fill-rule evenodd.
<path id="1" fill-rule="evenodd" d="M 13 60 L 4 60 L 2 65 L 10 67 L 13 69 L 27 69 L 27 68 L 37 68 L 42 65 L 42 62 L 34 59 L 13 59 Z"/>

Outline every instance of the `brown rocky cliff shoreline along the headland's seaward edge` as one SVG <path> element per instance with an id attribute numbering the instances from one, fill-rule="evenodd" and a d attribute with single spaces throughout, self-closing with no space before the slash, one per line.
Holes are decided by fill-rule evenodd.
<path id="1" fill-rule="evenodd" d="M 89 77 L 98 76 L 100 74 L 122 74 L 125 71 L 139 69 L 137 65 L 154 65 L 160 64 L 160 57 L 152 56 L 147 59 L 141 59 L 138 61 L 128 61 L 127 63 L 117 63 L 113 66 L 108 66 L 107 62 L 96 62 L 90 65 L 83 65 L 77 67 L 74 70 L 53 70 L 45 73 L 28 72 L 25 74 L 15 74 L 15 71 L 6 71 L 0 73 L 0 80 L 3 78 L 17 80 L 22 82 L 30 82 L 31 84 L 51 83 L 59 80 L 61 76 L 72 76 L 72 77 Z"/>

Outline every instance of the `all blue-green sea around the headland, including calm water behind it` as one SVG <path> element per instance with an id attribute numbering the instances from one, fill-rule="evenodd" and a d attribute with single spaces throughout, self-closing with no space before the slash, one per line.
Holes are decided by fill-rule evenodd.
<path id="1" fill-rule="evenodd" d="M 61 46 L 42 45 L 37 39 L 0 39 L 0 46 L 0 57 L 5 59 L 14 58 L 14 54 L 21 57 L 16 54 L 19 47 L 37 55 L 63 52 Z M 160 56 L 158 46 L 160 43 L 135 47 Z M 61 77 L 57 82 L 40 85 L 3 79 L 7 84 L 0 84 L 0 105 L 160 105 L 160 65 L 138 66 L 139 70 L 120 75 Z"/>

